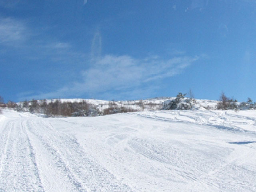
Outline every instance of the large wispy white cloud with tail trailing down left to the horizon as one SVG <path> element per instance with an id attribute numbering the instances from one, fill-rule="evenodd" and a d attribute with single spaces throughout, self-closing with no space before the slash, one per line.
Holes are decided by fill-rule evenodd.
<path id="1" fill-rule="evenodd" d="M 41 93 L 30 96 L 30 98 L 58 98 L 82 96 L 84 94 L 94 96 L 100 94 L 112 99 L 116 98 L 114 94 L 117 93 L 126 96 L 129 95 L 128 92 L 136 92 L 141 95 L 143 95 L 142 92 L 152 93 L 158 88 L 154 82 L 182 73 L 199 58 L 200 56 L 182 56 L 164 60 L 158 56 L 137 59 L 125 55 L 106 55 L 96 61 L 94 66 L 81 73 L 82 80 L 80 82 L 71 82 L 70 85 L 54 92 Z M 144 86 L 146 84 L 147 86 Z M 113 94 L 113 92 L 115 93 Z"/>

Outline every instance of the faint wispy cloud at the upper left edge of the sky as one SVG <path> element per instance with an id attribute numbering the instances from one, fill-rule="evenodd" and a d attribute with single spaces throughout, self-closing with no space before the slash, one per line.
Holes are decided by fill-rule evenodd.
<path id="1" fill-rule="evenodd" d="M 24 20 L 0 17 L 0 54 L 20 54 L 28 60 L 84 62 L 85 54 L 73 51 L 69 43 L 52 40 L 38 31 Z M 6 53 L 4 46 L 15 51 Z"/>

